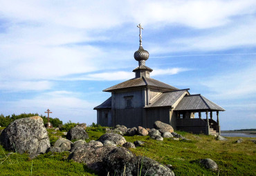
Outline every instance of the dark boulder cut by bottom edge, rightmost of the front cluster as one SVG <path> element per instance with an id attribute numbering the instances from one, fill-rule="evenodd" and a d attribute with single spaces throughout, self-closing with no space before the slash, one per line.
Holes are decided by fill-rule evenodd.
<path id="1" fill-rule="evenodd" d="M 149 157 L 137 157 L 137 164 L 141 168 L 141 175 L 174 176 L 171 168 L 163 166 Z"/>

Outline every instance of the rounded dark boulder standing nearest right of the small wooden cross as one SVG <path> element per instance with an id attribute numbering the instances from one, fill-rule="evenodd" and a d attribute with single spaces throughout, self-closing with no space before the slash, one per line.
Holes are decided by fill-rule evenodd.
<path id="1" fill-rule="evenodd" d="M 84 130 L 84 128 L 80 126 L 75 126 L 68 130 L 66 134 L 66 139 L 73 140 L 73 139 L 89 139 L 88 134 Z"/>

